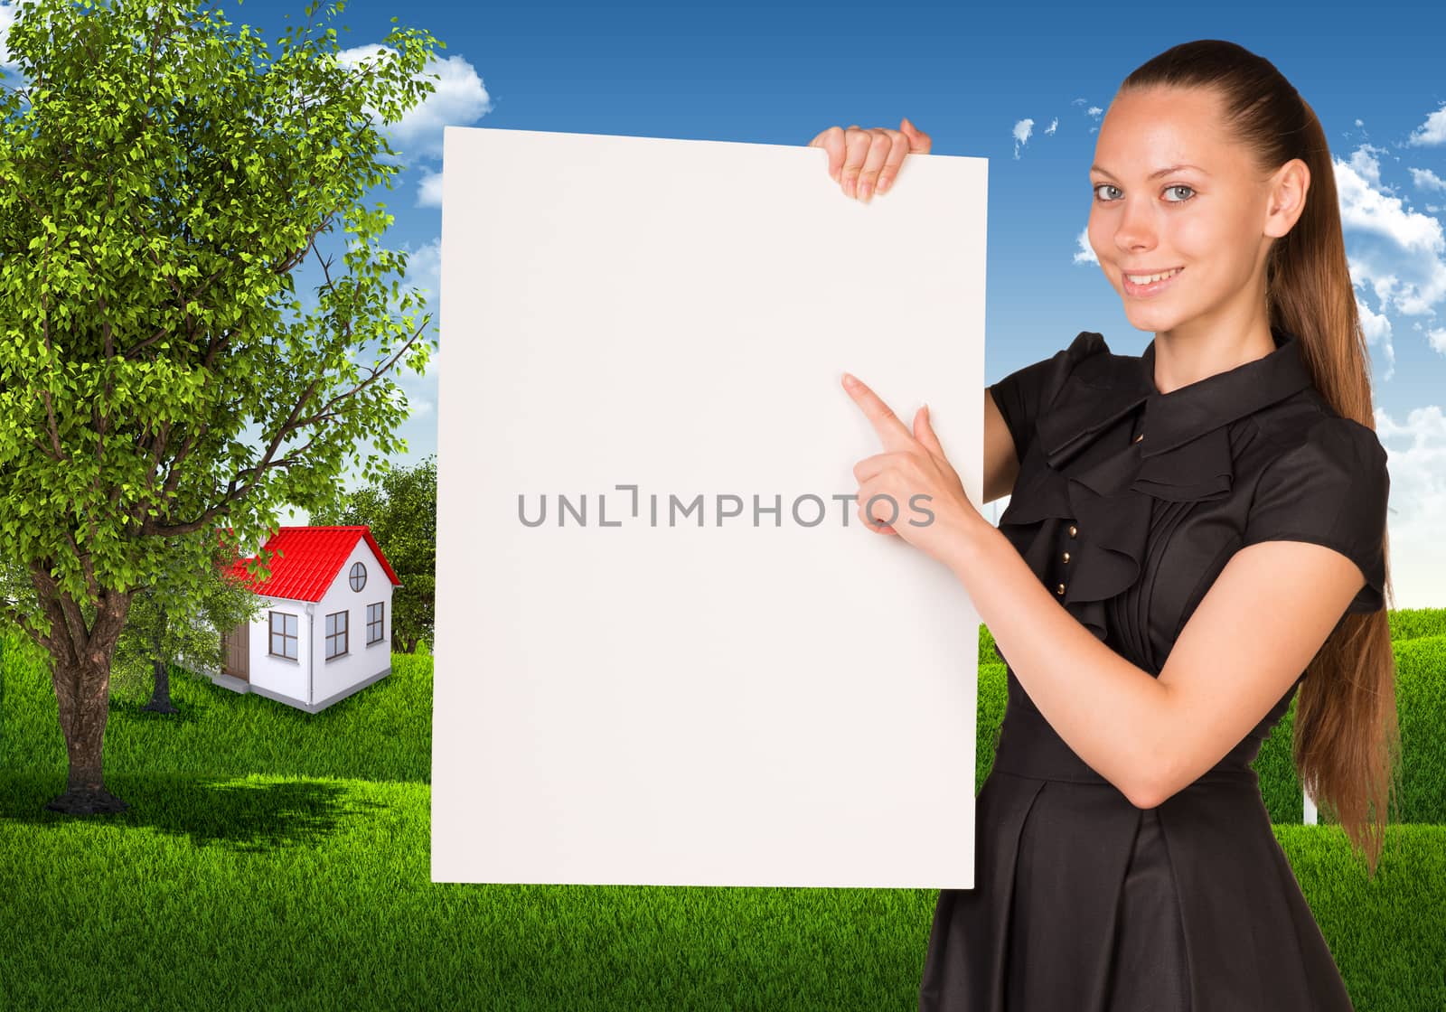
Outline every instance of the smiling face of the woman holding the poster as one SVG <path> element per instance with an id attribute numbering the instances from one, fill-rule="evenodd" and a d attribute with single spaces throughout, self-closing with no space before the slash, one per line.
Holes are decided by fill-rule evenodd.
<path id="1" fill-rule="evenodd" d="M 1095 145 L 1089 241 L 1134 327 L 1171 331 L 1199 317 L 1249 315 L 1242 308 L 1264 298 L 1267 233 L 1284 234 L 1280 226 L 1299 217 L 1271 214 L 1277 178 L 1258 176 L 1232 143 L 1213 91 L 1115 97 Z"/>

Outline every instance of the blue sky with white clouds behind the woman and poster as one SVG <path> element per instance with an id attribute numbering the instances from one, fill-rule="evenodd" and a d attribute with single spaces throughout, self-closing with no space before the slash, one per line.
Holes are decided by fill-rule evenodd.
<path id="1" fill-rule="evenodd" d="M 273 40 L 305 3 L 221 9 Z M 447 43 L 438 93 L 396 129 L 408 168 L 395 191 L 373 195 L 396 215 L 389 244 L 412 250 L 409 282 L 434 293 L 434 308 L 445 124 L 805 145 L 831 124 L 897 127 L 908 116 L 936 153 L 989 159 L 988 382 L 1080 330 L 1121 354 L 1144 350 L 1151 335 L 1079 259 L 1099 117 L 1131 69 L 1177 42 L 1222 38 L 1267 56 L 1320 116 L 1336 158 L 1391 458 L 1397 603 L 1446 606 L 1446 9 L 1377 3 L 1338 19 L 1306 3 L 415 0 L 350 3 L 330 23 L 350 27 L 343 46 L 369 46 L 393 16 Z M 401 377 L 414 416 L 398 463 L 435 451 L 444 367 L 445 354 L 428 376 Z M 1004 502 L 985 509 L 998 516 Z"/>

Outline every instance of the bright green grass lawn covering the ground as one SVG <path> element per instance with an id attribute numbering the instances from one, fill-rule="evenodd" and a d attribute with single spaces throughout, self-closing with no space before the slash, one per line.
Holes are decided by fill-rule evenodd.
<path id="1" fill-rule="evenodd" d="M 428 656 L 320 714 L 184 672 L 174 695 L 111 701 L 130 810 L 61 815 L 55 697 L 6 643 L 0 1009 L 915 1005 L 931 889 L 434 885 Z M 1356 1009 L 1446 1008 L 1446 826 L 1391 826 L 1371 882 L 1339 827 L 1275 833 Z"/>

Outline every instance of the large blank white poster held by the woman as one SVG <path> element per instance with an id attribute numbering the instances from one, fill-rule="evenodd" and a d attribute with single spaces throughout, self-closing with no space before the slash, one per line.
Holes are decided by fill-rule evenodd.
<path id="1" fill-rule="evenodd" d="M 979 505 L 988 163 L 826 165 L 447 129 L 434 882 L 973 888 L 979 614 L 840 376 Z"/>

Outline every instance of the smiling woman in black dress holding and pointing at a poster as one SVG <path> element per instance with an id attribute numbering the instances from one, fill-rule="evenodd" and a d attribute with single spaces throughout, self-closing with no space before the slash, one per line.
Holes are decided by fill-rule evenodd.
<path id="1" fill-rule="evenodd" d="M 868 200 L 930 139 L 811 145 Z M 1008 665 L 976 888 L 940 892 L 920 1009 L 1351 1009 L 1249 765 L 1299 688 L 1301 782 L 1374 876 L 1390 480 L 1326 137 L 1268 61 L 1190 42 L 1125 80 L 1090 185 L 1090 246 L 1154 340 L 1084 331 L 989 387 L 998 529 L 927 409 L 910 429 L 844 377 L 888 450 L 855 470 L 860 516 L 959 574 Z M 927 528 L 866 509 L 921 490 Z"/>

